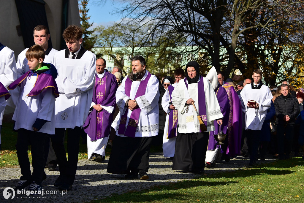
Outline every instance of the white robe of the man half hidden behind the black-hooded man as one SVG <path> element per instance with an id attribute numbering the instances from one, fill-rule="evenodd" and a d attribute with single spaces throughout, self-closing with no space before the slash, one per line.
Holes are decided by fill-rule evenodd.
<path id="1" fill-rule="evenodd" d="M 176 86 L 177 83 L 172 84 L 173 87 Z M 161 106 L 163 107 L 164 111 L 167 113 L 166 115 L 166 122 L 164 127 L 164 136 L 163 136 L 163 153 L 164 157 L 174 157 L 174 150 L 175 150 L 175 141 L 176 137 L 172 137 L 168 139 L 168 126 L 169 126 L 169 113 L 171 112 L 171 109 L 169 108 L 169 102 L 170 102 L 170 95 L 168 88 L 166 92 L 164 93 L 164 96 L 161 98 Z M 177 124 L 176 124 L 177 125 Z"/>

